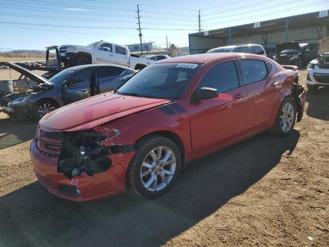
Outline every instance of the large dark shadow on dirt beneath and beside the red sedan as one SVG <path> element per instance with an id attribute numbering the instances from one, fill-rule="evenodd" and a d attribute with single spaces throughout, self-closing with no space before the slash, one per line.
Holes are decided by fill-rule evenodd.
<path id="1" fill-rule="evenodd" d="M 166 195 L 131 193 L 76 203 L 50 195 L 38 182 L 0 198 L 0 246 L 156 246 L 188 230 L 240 195 L 293 152 L 299 132 L 267 133 L 182 169 Z"/>

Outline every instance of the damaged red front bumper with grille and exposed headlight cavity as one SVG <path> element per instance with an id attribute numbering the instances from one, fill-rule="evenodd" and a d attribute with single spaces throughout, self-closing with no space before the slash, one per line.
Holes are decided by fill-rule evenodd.
<path id="1" fill-rule="evenodd" d="M 87 145 L 81 149 L 76 146 L 80 145 L 76 133 L 61 140 L 48 138 L 44 133 L 38 130 L 30 153 L 36 177 L 50 193 L 73 201 L 88 201 L 124 191 L 125 171 L 135 151 L 113 153 L 105 146 Z M 56 151 L 58 146 L 60 151 Z"/>

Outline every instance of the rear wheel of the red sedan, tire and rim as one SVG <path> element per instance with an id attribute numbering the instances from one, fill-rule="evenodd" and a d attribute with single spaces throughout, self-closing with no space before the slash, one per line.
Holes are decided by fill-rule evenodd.
<path id="1" fill-rule="evenodd" d="M 294 100 L 284 98 L 280 104 L 274 124 L 268 132 L 277 136 L 286 136 L 290 134 L 295 126 L 296 113 L 297 109 Z"/>

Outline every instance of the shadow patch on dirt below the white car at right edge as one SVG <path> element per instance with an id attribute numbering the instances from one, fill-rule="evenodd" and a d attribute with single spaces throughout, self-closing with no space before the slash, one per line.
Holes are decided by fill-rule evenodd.
<path id="1" fill-rule="evenodd" d="M 306 114 L 310 117 L 329 120 L 329 87 L 320 87 L 316 90 L 306 91 L 308 108 Z"/>

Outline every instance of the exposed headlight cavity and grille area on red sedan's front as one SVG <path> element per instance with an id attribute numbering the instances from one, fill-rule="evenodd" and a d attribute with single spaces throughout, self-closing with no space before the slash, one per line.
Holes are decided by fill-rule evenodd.
<path id="1" fill-rule="evenodd" d="M 71 180 L 85 172 L 89 176 L 112 166 L 107 155 L 134 150 L 134 145 L 115 145 L 119 130 L 95 127 L 89 131 L 44 132 L 38 130 L 36 145 L 46 156 L 59 157 L 57 172 Z"/>

